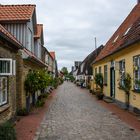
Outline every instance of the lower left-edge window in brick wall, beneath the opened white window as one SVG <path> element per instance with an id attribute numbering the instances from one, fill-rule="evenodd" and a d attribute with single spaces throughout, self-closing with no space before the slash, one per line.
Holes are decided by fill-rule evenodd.
<path id="1" fill-rule="evenodd" d="M 0 77 L 0 105 L 7 103 L 7 77 Z"/>

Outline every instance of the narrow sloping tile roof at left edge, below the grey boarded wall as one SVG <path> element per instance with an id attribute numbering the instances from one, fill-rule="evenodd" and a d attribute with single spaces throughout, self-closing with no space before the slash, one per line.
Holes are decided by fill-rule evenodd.
<path id="1" fill-rule="evenodd" d="M 22 46 L 22 44 L 10 32 L 8 32 L 1 24 L 0 24 L 0 34 L 2 34 L 3 37 L 10 39 L 13 43 L 16 43 L 16 45 L 20 47 Z"/>

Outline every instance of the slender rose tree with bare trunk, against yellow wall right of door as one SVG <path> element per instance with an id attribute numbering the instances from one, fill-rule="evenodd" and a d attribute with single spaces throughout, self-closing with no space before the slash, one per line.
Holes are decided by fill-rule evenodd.
<path id="1" fill-rule="evenodd" d="M 126 73 L 124 78 L 123 78 L 123 85 L 122 85 L 122 90 L 124 90 L 126 94 L 126 109 L 129 109 L 129 98 L 130 98 L 130 90 L 131 90 L 131 76 L 129 73 Z"/>

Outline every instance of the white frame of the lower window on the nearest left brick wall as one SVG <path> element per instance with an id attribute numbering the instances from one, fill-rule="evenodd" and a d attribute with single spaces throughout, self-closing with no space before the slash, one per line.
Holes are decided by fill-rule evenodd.
<path id="1" fill-rule="evenodd" d="M 3 100 L 3 90 L 2 90 L 2 81 L 3 81 L 3 79 L 6 79 L 6 86 L 5 86 L 5 96 L 6 96 L 6 99 L 5 99 L 5 101 L 2 101 Z M 6 104 L 7 102 L 8 102 L 8 84 L 7 84 L 7 81 L 8 81 L 8 79 L 7 79 L 7 77 L 0 77 L 0 80 L 1 80 L 1 82 L 0 82 L 0 106 L 2 106 L 2 105 L 4 105 L 4 104 Z"/>

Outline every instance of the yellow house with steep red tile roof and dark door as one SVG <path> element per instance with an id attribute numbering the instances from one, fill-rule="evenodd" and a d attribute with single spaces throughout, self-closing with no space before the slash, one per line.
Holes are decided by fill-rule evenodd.
<path id="1" fill-rule="evenodd" d="M 104 94 L 112 97 L 120 106 L 125 107 L 126 95 L 120 88 L 123 76 L 129 73 L 132 78 L 130 109 L 140 109 L 140 3 L 106 43 L 93 63 L 93 76 L 102 73 Z M 95 89 L 93 84 L 93 89 Z"/>

